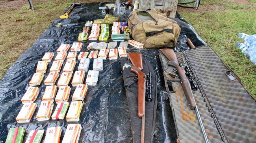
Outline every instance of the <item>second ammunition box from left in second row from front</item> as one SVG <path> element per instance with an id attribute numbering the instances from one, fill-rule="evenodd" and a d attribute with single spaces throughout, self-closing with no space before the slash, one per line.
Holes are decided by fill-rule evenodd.
<path id="1" fill-rule="evenodd" d="M 53 102 L 42 101 L 37 112 L 37 121 L 48 121 L 52 114 Z"/>

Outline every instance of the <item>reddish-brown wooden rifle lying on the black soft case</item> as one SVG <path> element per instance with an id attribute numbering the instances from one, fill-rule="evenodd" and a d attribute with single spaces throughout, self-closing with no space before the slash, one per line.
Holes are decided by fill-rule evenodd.
<path id="1" fill-rule="evenodd" d="M 134 72 L 138 76 L 138 117 L 141 120 L 141 143 L 144 143 L 145 136 L 145 73 L 141 70 L 142 56 L 139 53 L 128 53 L 127 54 L 133 67 L 131 72 Z"/>

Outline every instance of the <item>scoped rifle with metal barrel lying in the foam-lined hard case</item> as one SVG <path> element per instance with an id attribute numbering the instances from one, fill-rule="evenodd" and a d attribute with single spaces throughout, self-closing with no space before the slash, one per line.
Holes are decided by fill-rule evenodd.
<path id="1" fill-rule="evenodd" d="M 197 114 L 197 118 L 202 130 L 202 133 L 204 135 L 204 140 L 206 143 L 209 143 L 206 132 L 204 130 L 204 125 L 202 123 L 196 102 L 195 102 L 195 98 L 193 96 L 191 87 L 190 87 L 190 83 L 189 80 L 187 79 L 186 73 L 183 69 L 183 67 L 181 67 L 181 65 L 178 63 L 176 54 L 174 53 L 174 51 L 172 49 L 160 49 L 161 52 L 163 52 L 163 54 L 166 56 L 166 58 L 169 60 L 168 65 L 171 67 L 176 68 L 179 76 L 180 76 L 180 80 L 181 80 L 181 85 L 182 85 L 182 89 L 185 93 L 185 96 L 187 98 L 188 101 L 188 105 L 190 107 L 191 110 L 195 110 L 196 114 Z"/>

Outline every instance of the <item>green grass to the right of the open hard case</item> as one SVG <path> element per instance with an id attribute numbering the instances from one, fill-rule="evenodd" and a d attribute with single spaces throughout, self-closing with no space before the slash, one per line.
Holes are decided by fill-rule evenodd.
<path id="1" fill-rule="evenodd" d="M 208 4 L 206 1 L 206 4 L 203 3 L 201 6 Z M 224 11 L 202 13 L 182 11 L 181 14 L 256 97 L 256 66 L 236 47 L 237 42 L 243 42 L 238 38 L 237 33 L 256 33 L 256 7 L 255 5 L 232 5 L 232 7 L 229 5 L 229 9 Z"/>

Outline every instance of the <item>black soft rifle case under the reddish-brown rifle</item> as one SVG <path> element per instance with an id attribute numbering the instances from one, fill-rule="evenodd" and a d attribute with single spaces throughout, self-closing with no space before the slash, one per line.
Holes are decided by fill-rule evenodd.
<path id="1" fill-rule="evenodd" d="M 152 73 L 151 78 L 151 94 L 152 101 L 145 102 L 145 143 L 152 143 L 153 132 L 155 128 L 156 120 L 156 101 L 157 101 L 157 79 L 156 72 L 150 62 L 142 58 L 143 70 L 145 74 Z M 132 63 L 128 58 L 121 58 L 122 76 L 124 78 L 124 87 L 126 91 L 126 97 L 128 102 L 128 108 L 130 113 L 130 119 L 132 124 L 132 138 L 133 143 L 140 143 L 141 139 L 141 118 L 138 117 L 138 102 L 137 102 L 137 90 L 138 83 L 134 80 L 136 74 L 131 72 Z"/>

